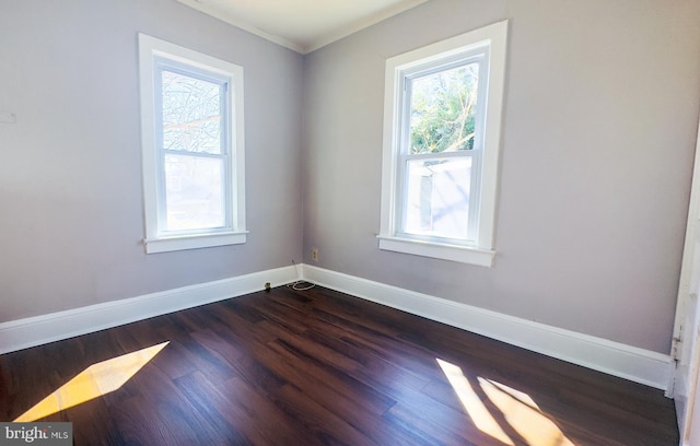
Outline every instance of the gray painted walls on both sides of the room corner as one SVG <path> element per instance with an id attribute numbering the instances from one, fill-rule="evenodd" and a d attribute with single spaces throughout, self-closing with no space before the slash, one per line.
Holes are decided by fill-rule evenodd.
<path id="1" fill-rule="evenodd" d="M 431 0 L 302 58 L 172 0 L 4 0 L 0 321 L 303 256 L 666 353 L 698 16 L 698 0 Z M 385 59 L 503 19 L 495 266 L 378 250 Z M 245 68 L 247 244 L 143 253 L 137 32 Z"/>

